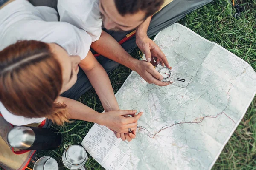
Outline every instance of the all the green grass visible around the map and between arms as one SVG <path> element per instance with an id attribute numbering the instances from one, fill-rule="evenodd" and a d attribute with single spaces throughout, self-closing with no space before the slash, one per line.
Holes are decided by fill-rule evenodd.
<path id="1" fill-rule="evenodd" d="M 241 1 L 246 6 L 239 19 L 231 3 L 226 0 L 215 0 L 206 6 L 193 11 L 178 23 L 190 28 L 202 37 L 216 42 L 227 50 L 248 62 L 256 70 L 256 0 Z M 138 49 L 132 56 L 139 57 Z M 120 66 L 110 74 L 115 92 L 130 74 L 131 70 Z M 94 90 L 81 96 L 80 102 L 96 111 L 103 108 Z M 213 170 L 256 170 L 256 98 L 247 110 L 246 115 L 233 133 Z M 57 128 L 64 136 L 64 144 L 81 144 L 82 139 L 90 130 L 93 123 L 75 121 Z M 63 144 L 63 145 L 64 145 Z M 61 162 L 64 146 L 53 151 L 39 151 L 38 156 L 52 156 Z M 61 163 L 60 163 L 61 164 Z M 87 161 L 88 170 L 102 170 L 103 168 L 90 157 Z"/>

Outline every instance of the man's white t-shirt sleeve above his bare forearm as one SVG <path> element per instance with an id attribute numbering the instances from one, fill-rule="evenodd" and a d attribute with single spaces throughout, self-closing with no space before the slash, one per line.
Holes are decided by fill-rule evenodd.
<path id="1" fill-rule="evenodd" d="M 99 40 L 102 32 L 99 0 L 58 0 L 58 12 L 60 21 L 85 30 L 92 42 Z"/>

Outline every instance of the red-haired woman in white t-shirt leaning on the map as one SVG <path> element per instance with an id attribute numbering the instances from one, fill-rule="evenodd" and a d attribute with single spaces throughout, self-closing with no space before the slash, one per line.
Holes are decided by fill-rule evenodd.
<path id="1" fill-rule="evenodd" d="M 118 111 L 108 75 L 90 52 L 90 36 L 71 24 L 58 22 L 53 8 L 35 7 L 26 0 L 5 1 L 0 4 L 0 50 L 5 48 L 0 52 L 0 112 L 4 118 L 13 125 L 45 118 L 58 125 L 68 119 L 86 120 L 119 132 L 116 136 L 122 140 L 135 138 L 141 113 L 125 118 L 122 115 L 135 111 Z M 59 97 L 76 82 L 78 64 L 106 113 Z M 70 93 L 65 96 L 70 97 Z M 130 130 L 133 133 L 128 134 Z"/>

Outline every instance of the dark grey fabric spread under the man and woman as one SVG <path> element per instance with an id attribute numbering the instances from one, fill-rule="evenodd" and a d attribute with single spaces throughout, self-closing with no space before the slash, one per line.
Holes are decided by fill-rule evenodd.
<path id="1" fill-rule="evenodd" d="M 29 0 L 34 6 L 49 6 L 57 10 L 57 0 Z M 152 37 L 154 34 L 157 34 L 159 31 L 164 28 L 172 25 L 177 22 L 177 20 L 185 17 L 186 14 L 189 14 L 196 8 L 204 6 L 205 4 L 211 2 L 212 0 L 174 0 L 164 7 L 160 12 L 155 14 L 152 17 L 150 26 L 148 28 L 148 37 Z M 113 38 L 117 41 L 122 40 L 126 34 L 129 32 L 113 32 L 113 31 L 104 31 L 108 32 Z M 130 40 L 124 42 L 122 47 L 130 53 L 137 47 L 135 39 L 132 37 Z M 96 57 L 99 63 L 105 68 L 107 73 L 116 68 L 119 64 L 107 59 L 103 56 Z M 71 99 L 78 99 L 82 94 L 92 88 L 87 76 L 84 74 L 84 71 L 79 68 L 78 79 L 75 85 L 70 88 L 68 91 L 61 94 L 61 96 L 68 97 Z"/>

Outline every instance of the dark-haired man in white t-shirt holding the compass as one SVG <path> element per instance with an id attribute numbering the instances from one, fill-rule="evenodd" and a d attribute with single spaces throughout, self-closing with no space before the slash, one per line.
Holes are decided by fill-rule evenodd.
<path id="1" fill-rule="evenodd" d="M 60 21 L 68 22 L 84 29 L 92 37 L 92 45 L 97 53 L 136 71 L 148 83 L 164 86 L 163 77 L 149 62 L 152 56 L 170 68 L 166 56 L 145 34 L 151 15 L 159 10 L 163 0 L 59 0 Z M 139 61 L 129 55 L 118 42 L 105 31 L 129 31 L 137 28 L 137 44 L 145 52 L 147 61 Z M 145 33 L 145 34 L 144 34 Z"/>

